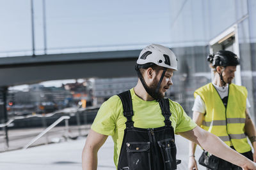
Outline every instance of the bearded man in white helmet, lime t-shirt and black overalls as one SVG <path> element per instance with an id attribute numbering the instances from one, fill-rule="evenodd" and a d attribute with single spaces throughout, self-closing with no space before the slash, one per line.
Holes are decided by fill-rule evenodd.
<path id="1" fill-rule="evenodd" d="M 97 169 L 97 152 L 108 136 L 115 143 L 118 170 L 177 169 L 174 133 L 237 166 L 256 170 L 252 161 L 198 127 L 179 103 L 164 98 L 176 70 L 177 58 L 169 48 L 149 45 L 141 51 L 137 85 L 110 97 L 97 113 L 83 150 L 84 170 Z"/>

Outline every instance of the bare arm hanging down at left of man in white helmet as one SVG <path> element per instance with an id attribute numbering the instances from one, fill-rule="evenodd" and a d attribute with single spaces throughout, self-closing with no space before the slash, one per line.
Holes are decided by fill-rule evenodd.
<path id="1" fill-rule="evenodd" d="M 82 153 L 82 167 L 83 170 L 97 169 L 97 153 L 99 148 L 105 143 L 108 136 L 99 134 L 92 129 L 90 130 Z"/>

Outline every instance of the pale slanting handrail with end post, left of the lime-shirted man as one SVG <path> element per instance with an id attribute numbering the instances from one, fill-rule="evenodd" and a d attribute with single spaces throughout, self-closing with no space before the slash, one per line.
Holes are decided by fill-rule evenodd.
<path id="1" fill-rule="evenodd" d="M 49 127 L 47 127 L 44 131 L 42 131 L 40 134 L 38 134 L 38 136 L 36 136 L 35 138 L 33 138 L 27 145 L 25 145 L 23 147 L 24 150 L 26 150 L 26 148 L 28 148 L 29 146 L 31 146 L 33 143 L 35 143 L 35 141 L 37 141 L 38 139 L 40 139 L 42 136 L 44 136 L 44 134 L 46 134 L 47 132 L 49 132 L 53 127 L 55 127 L 56 125 L 60 124 L 60 122 L 62 120 L 65 120 L 65 136 L 68 137 L 68 119 L 70 119 L 70 117 L 68 116 L 63 116 L 58 118 L 58 120 L 56 120 L 53 124 L 51 124 Z"/>

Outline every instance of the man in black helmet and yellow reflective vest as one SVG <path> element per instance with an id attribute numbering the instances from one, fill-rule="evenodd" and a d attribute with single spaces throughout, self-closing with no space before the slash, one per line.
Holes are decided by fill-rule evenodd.
<path id="1" fill-rule="evenodd" d="M 230 51 L 221 50 L 215 55 L 209 55 L 207 60 L 214 72 L 214 80 L 195 90 L 195 103 L 193 106 L 193 120 L 205 131 L 218 136 L 230 148 L 241 153 L 250 160 L 256 161 L 256 155 L 248 144 L 246 136 L 250 139 L 253 149 L 256 149 L 256 131 L 248 108 L 247 90 L 243 86 L 235 85 L 236 66 L 239 58 Z M 189 142 L 189 170 L 198 169 L 195 160 L 196 144 Z M 203 152 L 199 163 L 204 164 L 211 152 Z M 216 164 L 214 169 L 241 169 L 230 162 L 211 156 Z"/>

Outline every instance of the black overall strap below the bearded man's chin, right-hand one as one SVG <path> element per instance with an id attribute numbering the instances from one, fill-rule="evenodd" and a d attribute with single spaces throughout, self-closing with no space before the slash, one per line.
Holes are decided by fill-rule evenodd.
<path id="1" fill-rule="evenodd" d="M 172 122 L 170 121 L 170 117 L 172 113 L 170 112 L 170 103 L 168 98 L 160 99 L 159 101 L 162 115 L 164 116 L 164 124 L 166 126 L 172 126 Z"/>

